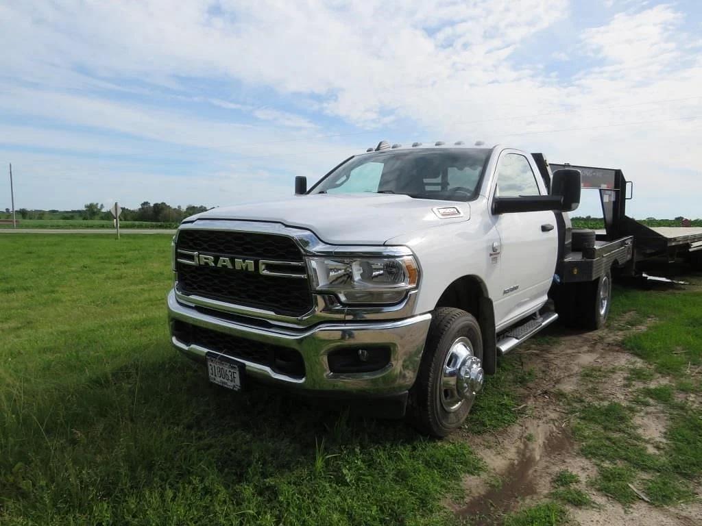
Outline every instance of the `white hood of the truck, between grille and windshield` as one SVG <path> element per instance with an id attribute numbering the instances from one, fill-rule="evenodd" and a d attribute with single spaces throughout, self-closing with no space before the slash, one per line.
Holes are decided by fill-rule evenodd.
<path id="1" fill-rule="evenodd" d="M 460 217 L 439 217 L 437 207 L 456 207 Z M 213 208 L 193 220 L 282 223 L 308 229 L 332 245 L 383 245 L 413 231 L 468 221 L 470 205 L 392 194 L 312 194 L 279 201 Z"/>

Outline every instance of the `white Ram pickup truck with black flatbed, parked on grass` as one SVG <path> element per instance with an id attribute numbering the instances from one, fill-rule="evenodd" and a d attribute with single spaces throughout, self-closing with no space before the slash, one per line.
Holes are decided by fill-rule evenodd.
<path id="1" fill-rule="evenodd" d="M 383 141 L 306 186 L 183 221 L 173 345 L 229 389 L 363 398 L 432 436 L 559 314 L 600 327 L 632 257 L 630 236 L 573 235 L 579 170 L 509 147 Z"/>

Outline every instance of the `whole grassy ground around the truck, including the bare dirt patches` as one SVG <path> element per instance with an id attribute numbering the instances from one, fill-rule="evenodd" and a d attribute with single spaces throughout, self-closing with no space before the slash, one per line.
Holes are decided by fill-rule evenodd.
<path id="1" fill-rule="evenodd" d="M 170 241 L 0 238 L 0 524 L 701 523 L 702 275 L 515 350 L 439 441 L 209 384 L 168 341 Z"/>

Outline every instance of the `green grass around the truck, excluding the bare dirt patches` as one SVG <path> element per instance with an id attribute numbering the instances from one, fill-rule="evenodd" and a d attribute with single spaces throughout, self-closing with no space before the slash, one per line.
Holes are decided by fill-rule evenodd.
<path id="1" fill-rule="evenodd" d="M 166 328 L 170 241 L 161 235 L 0 238 L 1 524 L 458 521 L 446 499 L 463 499 L 463 476 L 484 469 L 479 452 L 460 436 L 427 440 L 401 422 L 322 409 L 269 389 L 232 395 L 178 356 Z M 643 302 L 642 318 L 661 318 L 654 337 L 633 335 L 626 345 L 666 372 L 699 363 L 699 297 L 651 300 L 645 293 L 616 297 L 616 313 Z M 680 353 L 666 356 L 665 349 L 677 348 L 671 346 L 686 349 L 681 359 Z M 501 361 L 469 417 L 470 432 L 494 433 L 515 423 L 521 403 L 515 388 L 531 382 L 518 363 L 518 354 Z M 674 402 L 668 400 L 670 407 Z M 576 407 L 584 443 L 595 431 L 600 434 L 592 440 L 600 441 L 620 431 L 592 431 L 602 422 L 598 409 Z M 671 441 L 665 473 L 673 482 L 658 488 L 661 502 L 689 495 L 686 481 L 702 469 L 694 454 L 697 413 L 677 411 L 671 432 L 681 438 Z M 639 466 L 607 451 L 602 477 L 614 477 L 621 489 Z M 685 459 L 693 462 L 687 473 L 680 466 Z M 614 463 L 621 472 L 607 471 Z M 564 476 L 554 501 L 508 515 L 505 524 L 564 523 L 567 511 L 556 501 L 587 497 L 570 484 Z"/>

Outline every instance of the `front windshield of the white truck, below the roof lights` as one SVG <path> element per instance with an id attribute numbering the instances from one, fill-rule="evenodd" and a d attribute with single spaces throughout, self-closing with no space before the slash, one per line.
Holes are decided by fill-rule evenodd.
<path id="1" fill-rule="evenodd" d="M 479 191 L 489 149 L 381 151 L 351 159 L 311 194 L 404 194 L 421 199 L 470 201 Z"/>

